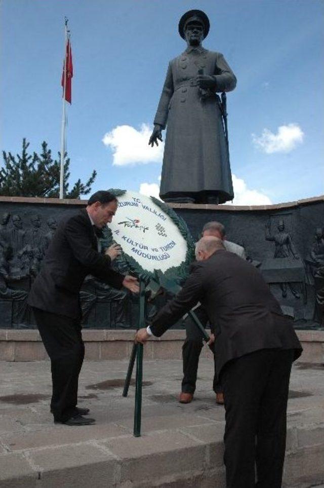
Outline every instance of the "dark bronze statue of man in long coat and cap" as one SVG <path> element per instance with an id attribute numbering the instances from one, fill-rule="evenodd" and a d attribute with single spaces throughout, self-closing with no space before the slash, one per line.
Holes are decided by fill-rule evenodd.
<path id="1" fill-rule="evenodd" d="M 221 53 L 201 46 L 209 26 L 200 10 L 181 17 L 187 49 L 169 63 L 154 119 L 151 146 L 168 123 L 159 192 L 166 202 L 218 204 L 234 196 L 217 92 L 233 90 L 236 78 Z"/>

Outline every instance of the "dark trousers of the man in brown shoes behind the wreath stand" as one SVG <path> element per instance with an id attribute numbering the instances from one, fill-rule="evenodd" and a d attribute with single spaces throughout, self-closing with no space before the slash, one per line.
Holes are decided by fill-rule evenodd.
<path id="1" fill-rule="evenodd" d="M 200 322 L 206 327 L 207 322 L 203 320 L 203 314 L 199 314 L 200 309 L 201 307 L 196 309 L 195 312 Z M 201 349 L 203 349 L 203 338 L 201 332 L 189 316 L 184 320 L 184 325 L 186 327 L 186 340 L 182 346 L 183 380 L 181 391 L 193 394 L 196 389 L 198 362 Z M 213 390 L 217 393 L 221 392 L 222 388 L 216 374 L 215 354 L 214 368 Z"/>

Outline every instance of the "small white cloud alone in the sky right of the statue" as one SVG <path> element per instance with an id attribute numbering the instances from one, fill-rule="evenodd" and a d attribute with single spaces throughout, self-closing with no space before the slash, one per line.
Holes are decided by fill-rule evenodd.
<path id="1" fill-rule="evenodd" d="M 298 124 L 281 125 L 276 134 L 263 129 L 262 135 L 252 134 L 254 145 L 266 154 L 289 153 L 303 142 L 304 133 Z"/>

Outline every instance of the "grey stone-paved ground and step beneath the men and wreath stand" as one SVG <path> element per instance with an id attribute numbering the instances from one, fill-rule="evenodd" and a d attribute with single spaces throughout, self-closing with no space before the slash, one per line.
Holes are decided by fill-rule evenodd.
<path id="1" fill-rule="evenodd" d="M 0 487 L 224 487 L 224 409 L 201 359 L 197 391 L 177 402 L 179 360 L 145 360 L 142 437 L 134 438 L 134 386 L 121 396 L 128 361 L 86 361 L 79 406 L 96 425 L 54 425 L 50 364 L 0 362 Z M 284 486 L 324 487 L 323 365 L 296 364 L 290 385 Z"/>

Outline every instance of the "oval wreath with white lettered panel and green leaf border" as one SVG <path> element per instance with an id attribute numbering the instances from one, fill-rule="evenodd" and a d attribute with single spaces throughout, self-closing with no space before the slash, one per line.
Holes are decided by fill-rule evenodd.
<path id="1" fill-rule="evenodd" d="M 165 273 L 170 268 L 188 264 L 193 241 L 181 217 L 153 197 L 110 191 L 118 199 L 118 208 L 109 229 L 113 241 L 120 244 L 125 257 L 131 258 L 130 262 L 135 259 L 148 274 L 154 270 Z"/>

